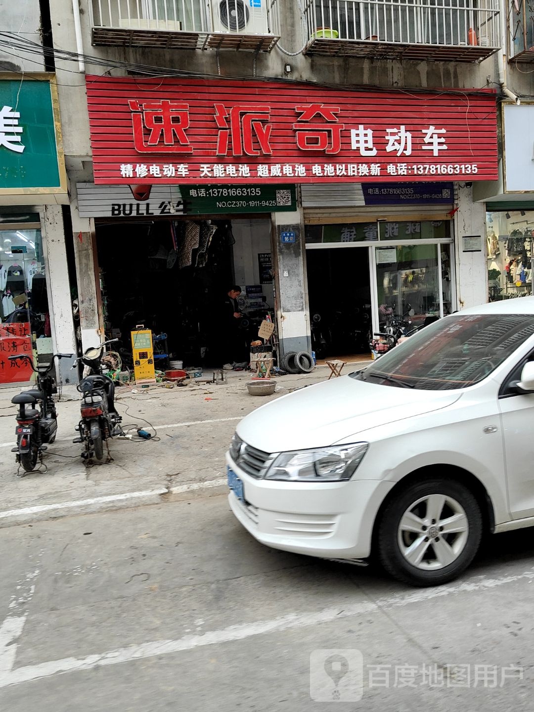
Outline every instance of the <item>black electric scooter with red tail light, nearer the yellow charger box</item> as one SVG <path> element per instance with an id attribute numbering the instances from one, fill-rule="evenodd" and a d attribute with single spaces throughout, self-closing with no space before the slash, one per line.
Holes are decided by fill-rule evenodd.
<path id="1" fill-rule="evenodd" d="M 104 347 L 118 339 L 105 341 L 100 346 L 89 348 L 83 356 L 76 359 L 75 366 L 82 362 L 89 368 L 89 375 L 81 379 L 77 389 L 82 394 L 80 405 L 81 419 L 75 427 L 80 433 L 73 442 L 83 443 L 82 459 L 90 461 L 95 459 L 102 462 L 104 459 L 104 443 L 116 435 L 124 435 L 120 423 L 122 417 L 115 410 L 115 384 L 102 372 L 102 357 Z M 108 461 L 111 456 L 108 446 Z"/>

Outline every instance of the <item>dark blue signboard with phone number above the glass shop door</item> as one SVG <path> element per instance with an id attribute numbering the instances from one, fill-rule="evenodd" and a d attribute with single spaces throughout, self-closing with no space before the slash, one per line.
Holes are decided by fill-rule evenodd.
<path id="1" fill-rule="evenodd" d="M 451 205 L 452 183 L 363 183 L 366 205 Z"/>

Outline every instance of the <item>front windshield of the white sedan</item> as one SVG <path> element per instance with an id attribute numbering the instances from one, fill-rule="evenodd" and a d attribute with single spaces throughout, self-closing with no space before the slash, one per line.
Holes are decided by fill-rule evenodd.
<path id="1" fill-rule="evenodd" d="M 486 378 L 533 334 L 534 315 L 454 314 L 350 375 L 398 388 L 466 388 Z"/>

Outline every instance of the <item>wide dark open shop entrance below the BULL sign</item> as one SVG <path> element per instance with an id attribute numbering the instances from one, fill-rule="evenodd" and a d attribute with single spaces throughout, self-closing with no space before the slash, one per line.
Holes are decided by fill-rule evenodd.
<path id="1" fill-rule="evenodd" d="M 254 329 L 273 316 L 270 220 L 108 221 L 96 236 L 105 332 L 120 338 L 127 367 L 130 332 L 140 324 L 167 335 L 155 342 L 162 370 L 171 359 L 221 367 L 239 354 L 248 362 Z M 225 301 L 234 285 L 241 318 L 229 330 Z"/>

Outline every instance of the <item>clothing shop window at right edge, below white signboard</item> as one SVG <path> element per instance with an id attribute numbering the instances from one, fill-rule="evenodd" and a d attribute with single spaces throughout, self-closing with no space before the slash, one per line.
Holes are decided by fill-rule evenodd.
<path id="1" fill-rule="evenodd" d="M 486 213 L 488 299 L 532 294 L 533 210 Z"/>

